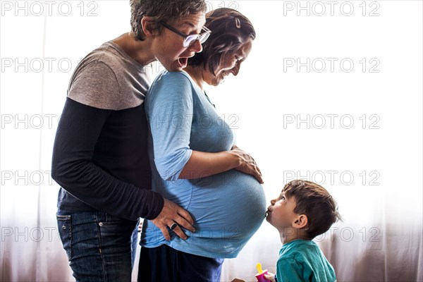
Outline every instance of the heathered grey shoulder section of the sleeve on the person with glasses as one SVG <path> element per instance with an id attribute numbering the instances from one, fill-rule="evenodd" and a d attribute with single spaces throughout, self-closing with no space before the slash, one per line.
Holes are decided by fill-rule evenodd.
<path id="1" fill-rule="evenodd" d="M 97 109 L 118 110 L 121 104 L 121 92 L 114 71 L 98 61 L 76 71 L 68 97 Z"/>

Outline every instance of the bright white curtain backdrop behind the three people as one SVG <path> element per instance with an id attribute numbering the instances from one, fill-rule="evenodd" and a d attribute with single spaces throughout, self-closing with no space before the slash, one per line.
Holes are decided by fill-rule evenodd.
<path id="1" fill-rule="evenodd" d="M 423 281 L 422 1 L 207 3 L 257 31 L 238 77 L 207 93 L 261 167 L 268 201 L 289 180 L 320 183 L 344 218 L 317 238 L 338 281 Z M 0 5 L 0 280 L 73 281 L 54 134 L 78 61 L 129 30 L 128 1 Z M 254 281 L 256 262 L 275 271 L 280 247 L 264 222 L 222 281 Z"/>

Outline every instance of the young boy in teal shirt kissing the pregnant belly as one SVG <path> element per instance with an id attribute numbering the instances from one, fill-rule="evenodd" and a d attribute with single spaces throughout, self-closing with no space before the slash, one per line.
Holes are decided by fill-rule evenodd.
<path id="1" fill-rule="evenodd" d="M 320 185 L 293 180 L 271 200 L 266 220 L 281 234 L 282 248 L 270 281 L 336 281 L 333 266 L 312 241 L 341 216 L 333 197 Z"/>

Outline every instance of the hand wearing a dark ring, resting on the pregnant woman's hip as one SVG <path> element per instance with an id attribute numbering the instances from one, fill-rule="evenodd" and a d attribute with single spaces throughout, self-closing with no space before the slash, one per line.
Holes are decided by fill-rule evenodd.
<path id="1" fill-rule="evenodd" d="M 179 207 L 178 204 L 175 204 L 167 199 L 164 199 L 163 209 L 161 209 L 160 214 L 151 221 L 160 229 L 166 240 L 171 240 L 171 235 L 169 235 L 169 231 L 166 226 L 171 228 L 171 230 L 173 230 L 173 232 L 175 232 L 176 235 L 183 240 L 187 240 L 188 236 L 183 233 L 180 228 L 181 226 L 191 232 L 195 232 L 195 229 L 192 226 L 192 224 L 194 224 L 194 220 L 190 214 L 185 211 L 185 209 Z M 176 225 L 173 225 L 174 223 Z"/>

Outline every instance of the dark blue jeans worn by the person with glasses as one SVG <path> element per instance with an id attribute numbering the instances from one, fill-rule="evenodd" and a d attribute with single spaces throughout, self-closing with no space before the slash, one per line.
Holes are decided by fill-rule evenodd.
<path id="1" fill-rule="evenodd" d="M 138 221 L 59 209 L 57 224 L 76 281 L 131 281 Z"/>

